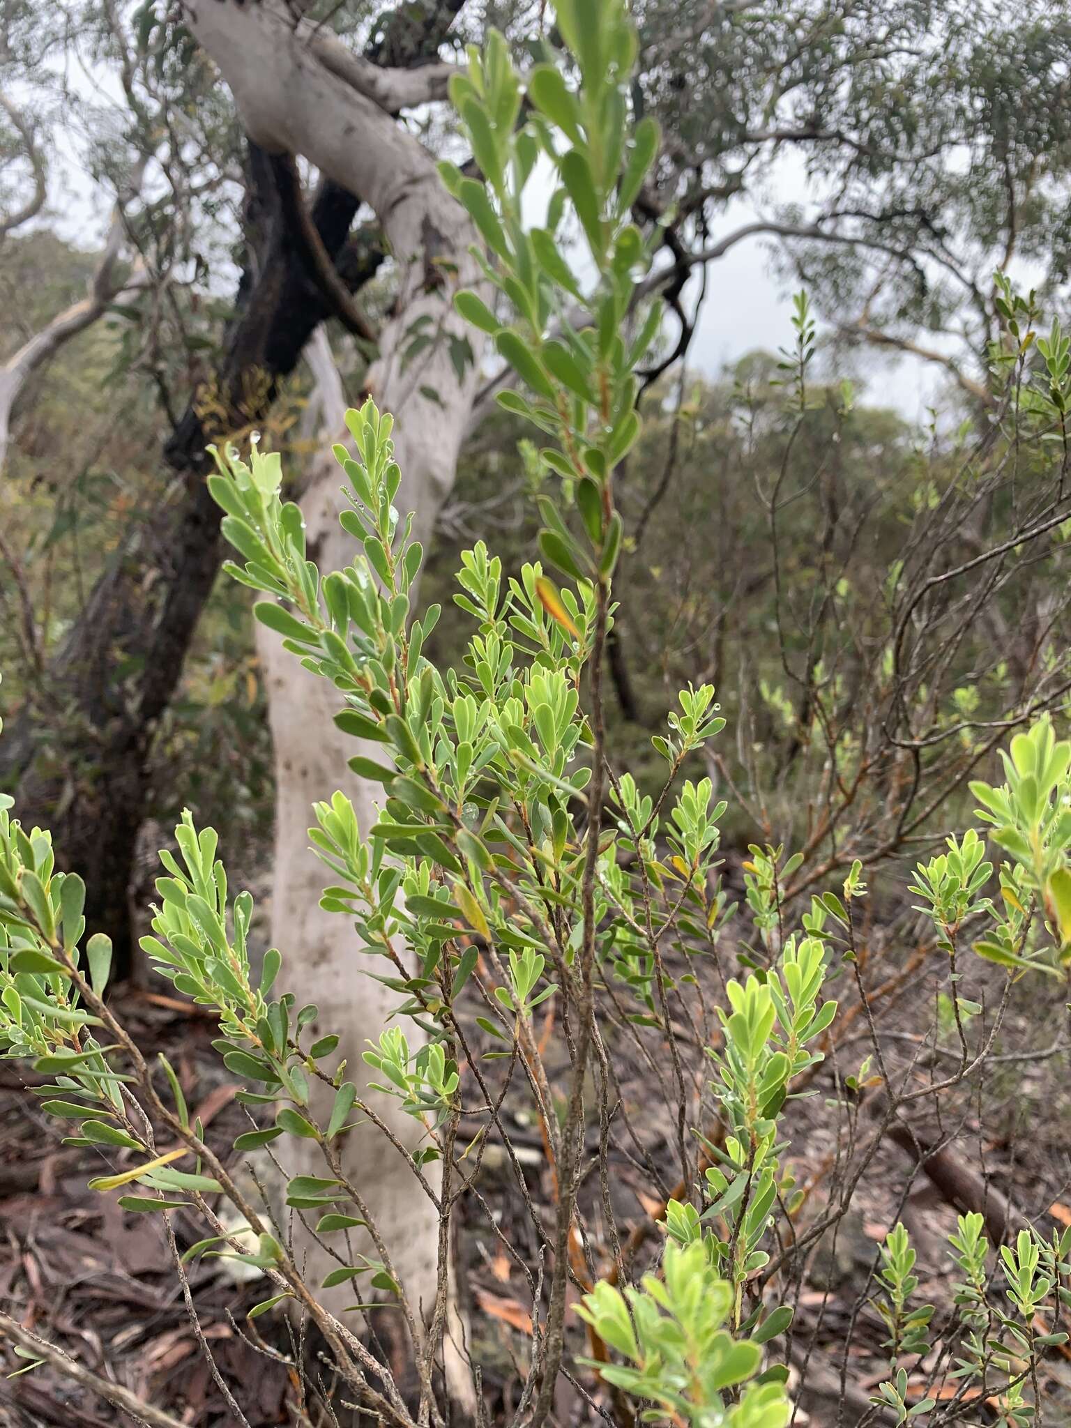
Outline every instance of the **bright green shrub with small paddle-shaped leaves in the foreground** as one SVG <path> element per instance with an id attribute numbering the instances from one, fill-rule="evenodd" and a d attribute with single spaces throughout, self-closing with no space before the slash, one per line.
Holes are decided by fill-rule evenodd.
<path id="1" fill-rule="evenodd" d="M 571 494 L 571 501 L 540 497 L 541 560 L 518 575 L 504 578 L 501 561 L 483 543 L 464 554 L 454 601 L 473 633 L 461 667 L 440 670 L 424 654 L 441 611 L 433 607 L 414 618 L 423 551 L 397 504 L 404 473 L 394 460 L 390 414 L 371 401 L 347 413 L 353 451 L 336 448 L 348 483 L 340 520 L 356 551 L 344 570 L 321 573 L 308 558 L 301 511 L 283 498 L 278 454 L 261 453 L 256 443 L 248 460 L 220 453 L 210 478 L 238 557 L 230 573 L 267 597 L 256 605 L 257 618 L 331 681 L 337 723 L 358 741 L 350 765 L 383 788 L 371 827 L 358 827 L 350 800 L 334 793 L 317 804 L 310 833 L 330 878 L 324 907 L 351 920 L 366 951 L 380 958 L 378 975 L 398 995 L 398 1024 L 364 1052 L 378 1077 L 374 1095 L 366 1100 L 347 1080 L 336 1032 L 310 1040 L 317 1008 L 277 990 L 286 984 L 278 951 L 267 952 L 254 977 L 253 900 L 231 895 L 216 834 L 197 830 L 188 815 L 176 830 L 178 855 L 161 855 L 160 901 L 143 945 L 177 992 L 218 1018 L 216 1047 L 258 1122 L 234 1150 L 278 1157 L 288 1140 L 316 1142 L 324 1174 L 291 1177 L 286 1205 L 316 1220 L 311 1232 L 330 1245 L 337 1268 L 320 1287 L 306 1281 L 270 1202 L 251 1201 L 191 1122 L 171 1067 L 163 1058 L 156 1070 L 146 1062 L 104 1000 L 110 950 L 99 934 L 86 935 L 84 884 L 54 867 L 47 833 L 23 830 L 10 800 L 0 808 L 0 1038 L 7 1055 L 30 1060 L 50 1078 L 41 1090 L 44 1108 L 76 1122 L 76 1144 L 127 1157 L 126 1168 L 93 1181 L 96 1190 L 123 1191 L 120 1205 L 131 1212 L 196 1217 L 206 1237 L 188 1254 L 224 1255 L 261 1272 L 270 1292 L 253 1314 L 293 1302 L 320 1329 L 346 1391 L 368 1412 L 407 1428 L 441 1421 L 433 1368 L 443 1347 L 450 1220 L 461 1192 L 463 1100 L 486 1115 L 481 1134 L 494 1135 L 501 1124 L 484 1071 L 494 1057 L 521 1065 L 555 1175 L 553 1217 L 541 1227 L 547 1282 L 530 1281 L 536 1332 L 526 1421 L 543 1424 L 558 1375 L 585 1362 L 597 1374 L 593 1388 L 601 1381 L 611 1391 L 623 1424 L 631 1422 L 634 1399 L 651 1421 L 781 1428 L 791 1404 L 788 1371 L 777 1359 L 793 1332 L 798 1257 L 844 1217 L 892 1118 L 914 1100 L 955 1087 L 992 1045 L 992 1028 L 974 1048 L 964 1030 L 971 1011 L 955 970 L 961 934 L 980 965 L 1000 965 L 1001 1007 L 1012 978 L 1035 970 L 1065 975 L 1071 745 L 1057 741 L 1047 721 L 1037 723 L 1011 741 L 1008 783 L 974 785 L 981 817 L 995 827 L 992 843 L 1005 855 L 997 871 L 1000 902 L 990 895 L 992 868 L 972 830 L 918 867 L 911 894 L 922 900 L 950 954 L 961 1038 L 958 1074 L 944 1085 L 891 1084 L 863 981 L 861 860 L 848 864 L 840 891 L 825 887 L 808 900 L 790 900 L 785 883 L 803 855 L 785 860 L 781 847 L 755 845 L 744 865 L 738 932 L 728 937 L 733 905 L 718 881 L 725 801 L 711 778 L 680 777 L 723 730 L 713 687 L 681 691 L 654 738 L 663 765 L 654 794 L 618 773 L 607 744 L 603 667 L 624 537 L 614 480 L 638 437 L 635 371 L 658 327 L 658 310 L 645 301 L 650 246 L 631 221 L 631 206 L 657 131 L 648 121 L 634 130 L 627 124 L 634 37 L 617 0 L 561 4 L 557 14 L 578 84 L 537 64 L 523 127 L 520 80 L 494 34 L 453 83 L 487 183 L 448 166 L 444 181 L 491 254 L 486 293 L 461 293 L 457 306 L 493 334 L 526 386 L 524 394 L 507 391 L 500 400 L 550 438 L 538 460 Z M 560 187 L 545 226 L 528 230 L 521 194 L 540 157 L 551 163 Z M 563 237 L 568 216 L 578 221 L 594 284 L 581 281 Z M 510 321 L 500 321 L 486 301 L 491 290 Z M 801 304 L 803 357 L 791 378 L 801 404 L 808 331 Z M 725 977 L 730 941 L 735 965 Z M 711 968 L 723 990 L 714 1018 L 704 1001 Z M 834 1107 L 854 1118 L 874 1082 L 887 1105 L 884 1122 L 863 1142 L 863 1168 L 853 1168 L 854 1180 L 845 1177 L 827 1217 L 797 1235 L 794 1217 L 807 1191 L 795 1185 L 785 1152 L 798 1100 L 823 1070 L 835 1030 L 843 994 L 838 987 L 837 998 L 828 995 L 834 984 L 858 991 L 880 1070 L 868 1077 L 864 1064 L 857 1077 L 833 1080 Z M 551 1084 L 534 1020 L 551 998 L 567 1027 L 564 1094 Z M 406 1035 L 407 1018 L 427 1038 L 420 1050 Z M 688 1022 L 713 1071 L 685 1068 L 675 1018 Z M 588 1085 L 598 1087 L 605 1177 L 618 1054 L 611 1027 L 641 1050 L 648 1032 L 668 1048 L 681 1188 L 665 1202 L 664 1248 L 638 1281 L 618 1247 L 613 1274 L 585 1282 L 573 1244 Z M 323 1122 L 310 1107 L 317 1081 L 333 1092 Z M 701 1088 L 694 1100 L 690 1082 Z M 340 1138 L 358 1120 L 383 1128 L 377 1097 L 397 1098 L 426 1128 L 421 1150 L 404 1154 L 436 1197 L 444 1231 L 430 1331 L 368 1215 L 361 1185 L 338 1155 Z M 697 1124 L 697 1105 L 711 1112 L 715 1131 Z M 441 1174 L 438 1191 L 426 1178 L 430 1165 Z M 608 1192 L 605 1202 L 613 1222 Z M 241 1231 L 227 1218 L 231 1211 Z M 351 1250 L 348 1232 L 357 1228 L 368 1231 L 374 1254 Z M 1001 1298 L 978 1218 L 961 1218 L 951 1241 L 962 1282 L 940 1332 L 955 1355 L 954 1381 L 981 1381 L 1011 1422 L 1028 1421 L 1038 1404 L 1037 1365 L 1065 1337 L 1055 1324 L 1068 1297 L 1070 1244 L 1071 1232 L 1045 1240 L 1024 1227 L 1014 1248 L 1001 1247 Z M 585 1247 L 594 1262 L 590 1235 Z M 897 1225 L 877 1284 L 892 1375 L 874 1402 L 898 1421 L 930 1412 L 937 1401 L 907 1402 L 902 1361 L 917 1367 L 938 1332 L 931 1307 L 914 1302 L 914 1264 L 908 1235 Z M 581 1291 L 575 1317 L 588 1327 L 587 1357 L 577 1352 L 567 1315 L 571 1279 Z M 416 1407 L 324 1308 L 320 1288 L 338 1285 L 353 1289 L 354 1308 L 380 1297 L 400 1311 L 418 1377 Z"/>

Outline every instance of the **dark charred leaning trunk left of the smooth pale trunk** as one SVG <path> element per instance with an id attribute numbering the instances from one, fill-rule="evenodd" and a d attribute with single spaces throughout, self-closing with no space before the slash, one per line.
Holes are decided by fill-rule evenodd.
<path id="1" fill-rule="evenodd" d="M 129 888 L 150 793 L 157 723 L 223 558 L 206 447 L 263 421 L 328 316 L 283 221 L 263 154 L 251 153 L 248 257 L 211 384 L 194 393 L 164 447 L 160 510 L 91 591 L 41 688 L 0 745 L 0 783 L 24 824 L 51 828 L 61 867 L 86 880 L 86 918 L 131 965 Z M 348 236 L 357 200 L 326 184 L 311 220 L 350 290 L 383 261 L 374 230 Z M 256 276 L 254 276 L 256 274 Z M 210 414 L 208 414 L 210 413 Z"/>

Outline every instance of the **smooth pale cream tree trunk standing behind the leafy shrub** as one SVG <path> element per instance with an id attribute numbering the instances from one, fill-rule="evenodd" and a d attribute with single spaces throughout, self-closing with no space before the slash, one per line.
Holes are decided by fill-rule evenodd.
<path id="1" fill-rule="evenodd" d="M 397 124 L 391 110 L 441 97 L 446 66 L 413 71 L 367 66 L 333 37 L 307 33 L 278 0 L 244 7 L 234 0 L 187 0 L 186 13 L 230 84 L 250 137 L 267 150 L 303 154 L 360 194 L 383 226 L 397 263 L 398 296 L 368 387 L 380 408 L 396 417 L 403 473 L 398 506 L 416 513 L 414 534 L 427 548 L 454 481 L 478 384 L 478 343 L 454 316 L 451 301 L 458 287 L 478 287 L 481 273 L 468 251 L 476 233 L 467 214 L 443 188 L 431 154 Z M 417 333 L 433 341 L 421 344 L 407 363 L 406 348 Z M 451 360 L 451 334 L 471 348 L 460 376 Z M 344 434 L 341 411 L 336 410 L 333 424 L 328 437 L 337 440 Z M 356 554 L 353 540 L 338 526 L 341 471 L 328 453 L 310 477 L 301 498 L 310 554 L 324 571 L 341 568 Z M 361 1050 L 366 1040 L 378 1037 L 397 998 L 367 975 L 381 965 L 363 951 L 350 921 L 320 908 L 328 878 L 310 851 L 307 830 L 313 803 L 328 800 L 338 788 L 353 798 L 361 827 L 370 827 L 373 797 L 381 797 L 381 790 L 363 784 L 347 768 L 358 747 L 334 725 L 337 690 L 310 675 L 270 637 L 263 638 L 261 653 L 278 788 L 273 941 L 284 955 L 287 984 L 301 1002 L 318 1005 L 324 1032 L 341 1035 L 347 1074 L 363 1085 Z M 406 1028 L 407 1035 L 411 1030 Z M 414 1148 L 421 1127 L 393 1114 L 388 1098 L 374 1091 L 370 1095 L 398 1138 Z M 348 1135 L 344 1155 L 414 1314 L 427 1317 L 437 1282 L 434 1205 L 398 1152 L 371 1127 Z M 323 1162 L 300 1168 L 316 1174 Z M 331 1261 L 314 1244 L 307 1250 L 313 1279 Z M 351 1288 L 337 1294 L 336 1307 L 340 1302 L 353 1302 Z M 454 1348 L 460 1348 L 457 1334 Z M 467 1375 L 450 1359 L 447 1352 L 448 1382 L 458 1394 Z"/>

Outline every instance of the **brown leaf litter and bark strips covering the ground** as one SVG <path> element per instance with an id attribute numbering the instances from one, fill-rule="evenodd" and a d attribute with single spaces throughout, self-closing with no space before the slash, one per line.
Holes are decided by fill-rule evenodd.
<path id="1" fill-rule="evenodd" d="M 874 985 L 878 968 L 874 967 Z M 967 990 L 977 995 L 978 987 Z M 982 994 L 985 988 L 981 988 Z M 932 1005 L 935 974 L 922 965 L 900 977 L 877 1012 L 885 1064 L 891 1077 L 927 1077 L 947 1071 L 947 1051 L 920 1055 L 910 1031 L 917 1011 Z M 163 1051 L 174 1065 L 191 1114 L 203 1121 L 213 1145 L 227 1151 L 233 1138 L 248 1128 L 246 1112 L 234 1101 L 218 1055 L 211 1048 L 214 1022 L 180 1001 L 156 991 L 117 991 L 126 1024 L 147 1057 Z M 844 1007 L 851 1001 L 843 985 Z M 920 1118 L 920 1138 L 934 1144 L 940 1132 L 948 1141 L 952 1168 L 982 1168 L 982 1195 L 1011 1197 L 1024 1215 L 1038 1224 L 1071 1224 L 1071 1088 L 1067 1054 L 1015 1060 L 1020 1047 L 1045 1047 L 1060 1041 L 1062 1005 L 1044 1015 L 1025 998 L 1012 1008 L 995 1051 L 1005 1060 L 991 1065 L 987 1081 L 965 1084 L 947 1102 L 942 1122 Z M 807 1202 L 797 1232 L 813 1224 L 838 1194 L 847 1175 L 838 1164 L 845 1125 L 831 1111 L 834 1068 L 854 1072 L 867 1055 L 868 1032 L 855 1017 L 847 1035 L 815 1077 L 808 1100 L 795 1102 L 793 1141 L 785 1152 Z M 644 1032 L 644 1035 L 648 1035 Z M 631 1032 L 628 1034 L 631 1037 Z M 655 1037 L 650 1032 L 650 1037 Z M 945 1047 L 952 1044 L 945 1037 Z M 655 1042 L 651 1041 L 651 1047 Z M 623 1238 L 631 1235 L 630 1252 L 643 1265 L 657 1254 L 655 1220 L 667 1187 L 680 1175 L 674 1115 L 653 1090 L 650 1064 L 638 1041 L 615 1048 L 621 1092 L 634 1138 L 615 1122 L 611 1141 L 614 1218 Z M 564 1045 L 551 1038 L 547 1061 L 554 1081 L 564 1074 Z M 504 1062 L 488 1062 L 503 1067 Z M 694 1070 L 694 1068 L 693 1068 Z M 96 1194 L 86 1181 L 101 1171 L 100 1155 L 89 1148 L 64 1147 L 61 1128 L 31 1094 L 33 1074 L 16 1062 L 0 1062 L 0 1304 L 39 1334 L 59 1344 L 96 1374 L 121 1382 L 140 1397 L 169 1409 L 196 1428 L 233 1424 L 223 1395 L 213 1381 L 206 1355 L 187 1315 L 174 1274 L 163 1225 L 156 1215 L 126 1214 L 114 1197 Z M 524 1091 L 523 1078 L 507 1094 L 503 1115 L 524 1168 L 531 1205 L 547 1222 L 553 1218 L 553 1181 Z M 984 1127 L 984 1130 L 982 1130 Z M 463 1127 L 463 1140 L 467 1127 Z M 597 1144 L 597 1125 L 591 1127 Z M 643 1147 L 641 1154 L 637 1142 Z M 947 1157 L 945 1157 L 947 1158 Z M 645 1160 L 645 1164 L 644 1164 Z M 900 1218 L 918 1251 L 920 1297 L 938 1305 L 940 1318 L 951 1304 L 954 1267 L 947 1235 L 955 1227 L 948 1184 L 931 1175 L 940 1157 L 924 1160 L 891 1140 L 880 1147 L 865 1170 L 850 1211 L 835 1231 L 823 1237 L 803 1258 L 794 1284 L 795 1329 L 790 1351 L 791 1381 L 798 1394 L 795 1422 L 813 1428 L 853 1428 L 867 1414 L 868 1394 L 888 1375 L 881 1348 L 884 1325 L 870 1302 L 871 1274 L 880 1244 Z M 831 1165 L 837 1165 L 831 1171 Z M 947 1168 L 947 1167 L 945 1167 Z M 523 1197 L 517 1194 L 506 1157 L 488 1147 L 480 1165 L 478 1188 L 498 1228 L 530 1265 L 537 1261 L 534 1230 Z M 591 1244 L 607 1250 L 604 1187 L 588 1175 L 581 1210 Z M 991 1205 L 980 1205 L 988 1208 Z M 201 1231 L 183 1212 L 176 1232 L 184 1248 Z M 516 1408 L 526 1372 L 530 1339 L 530 1299 L 524 1275 L 501 1248 L 471 1197 L 463 1205 L 458 1235 L 464 1308 L 471 1327 L 473 1357 L 483 1365 L 484 1392 L 491 1421 L 504 1422 Z M 605 1272 L 605 1265 L 603 1271 Z M 204 1338 L 223 1377 L 236 1388 L 251 1428 L 301 1422 L 294 1405 L 297 1375 L 284 1362 L 266 1357 L 248 1338 L 244 1315 L 264 1298 L 263 1285 L 236 1285 L 220 1261 L 198 1259 L 188 1267 Z M 286 1355 L 286 1331 L 268 1315 L 257 1328 Z M 266 1325 L 268 1325 L 266 1328 Z M 1068 1325 L 1071 1327 L 1071 1325 Z M 580 1345 L 577 1345 L 580 1348 Z M 581 1349 L 583 1351 L 583 1349 Z M 912 1367 L 911 1391 L 922 1397 L 932 1362 Z M 844 1369 L 844 1378 L 841 1378 Z M 801 1385 L 803 1372 L 803 1385 Z M 841 1392 L 844 1382 L 844 1392 Z M 1050 1355 L 1042 1375 L 1048 1428 L 1071 1424 L 1071 1354 Z M 945 1381 L 941 1392 L 951 1395 Z M 558 1404 L 564 1425 L 593 1421 L 580 1398 Z M 883 1422 L 871 1417 L 868 1422 Z M 958 1419 L 995 1422 L 984 1405 Z M 119 1409 L 76 1388 L 46 1368 L 0 1378 L 0 1424 L 4 1428 L 104 1428 L 130 1424 Z"/>

